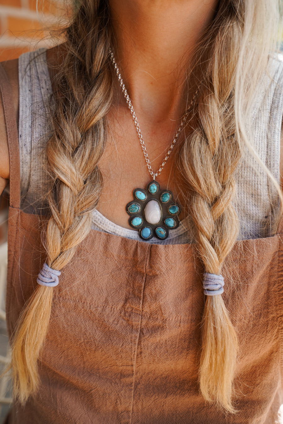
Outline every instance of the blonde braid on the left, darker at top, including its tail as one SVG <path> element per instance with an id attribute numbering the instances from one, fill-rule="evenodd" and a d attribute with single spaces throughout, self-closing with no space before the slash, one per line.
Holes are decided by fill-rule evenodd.
<path id="1" fill-rule="evenodd" d="M 98 162 L 107 139 L 105 116 L 112 102 L 109 11 L 99 1 L 91 3 L 82 4 L 67 28 L 67 53 L 55 77 L 55 102 L 50 107 L 52 136 L 45 156 L 52 184 L 47 194 L 50 218 L 44 244 L 46 262 L 56 270 L 70 262 L 90 232 L 92 210 L 102 187 Z M 79 56 L 80 52 L 85 55 Z M 37 360 L 48 330 L 52 297 L 52 287 L 37 285 L 15 329 L 11 365 L 14 396 L 22 403 L 36 393 L 39 384 Z"/>

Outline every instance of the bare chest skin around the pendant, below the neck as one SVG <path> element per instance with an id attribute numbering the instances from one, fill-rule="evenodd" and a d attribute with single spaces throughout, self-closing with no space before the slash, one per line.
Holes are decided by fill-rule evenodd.
<path id="1" fill-rule="evenodd" d="M 152 181 L 142 145 L 137 135 L 136 128 L 129 111 L 112 117 L 109 122 L 109 134 L 104 154 L 99 162 L 103 177 L 103 190 L 100 196 L 98 211 L 106 218 L 130 229 L 126 213 L 126 204 L 132 200 L 133 190 L 145 189 Z M 164 125 L 156 128 L 145 129 L 143 133 L 145 148 L 154 173 L 162 165 L 174 137 L 175 126 Z M 181 143 L 182 139 L 177 140 Z M 174 201 L 182 205 L 179 219 L 185 217 L 185 188 L 176 168 L 178 145 L 174 146 L 167 162 L 165 163 L 156 181 L 161 190 L 170 190 Z"/>

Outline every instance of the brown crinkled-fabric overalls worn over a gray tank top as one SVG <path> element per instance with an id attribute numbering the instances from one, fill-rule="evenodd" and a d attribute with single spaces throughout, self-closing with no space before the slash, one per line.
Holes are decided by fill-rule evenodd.
<path id="1" fill-rule="evenodd" d="M 45 261 L 44 217 L 20 210 L 17 127 L 3 70 L 0 86 L 10 155 L 11 335 Z M 199 394 L 205 296 L 192 246 L 91 231 L 54 288 L 38 395 L 14 406 L 7 423 L 274 424 L 283 403 L 282 233 L 281 220 L 274 237 L 237 242 L 225 262 L 223 298 L 240 344 L 239 413 L 225 416 Z"/>

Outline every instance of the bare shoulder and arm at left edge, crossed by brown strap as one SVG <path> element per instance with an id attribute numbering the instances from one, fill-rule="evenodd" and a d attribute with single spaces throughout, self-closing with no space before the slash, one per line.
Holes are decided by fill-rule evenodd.
<path id="1" fill-rule="evenodd" d="M 19 82 L 18 82 L 18 60 L 10 60 L 2 63 L 6 71 L 13 92 L 14 109 L 18 122 L 19 111 Z M 6 136 L 6 125 L 3 112 L 2 99 L 0 98 L 0 194 L 8 184 L 9 174 L 9 152 Z"/>

